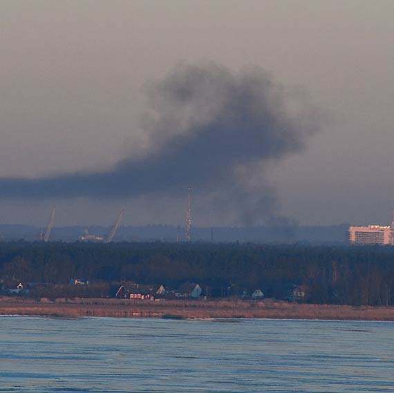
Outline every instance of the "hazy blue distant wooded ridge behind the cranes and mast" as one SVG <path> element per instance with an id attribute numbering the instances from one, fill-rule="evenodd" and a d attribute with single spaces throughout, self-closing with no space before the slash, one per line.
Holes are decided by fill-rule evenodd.
<path id="1" fill-rule="evenodd" d="M 344 245 L 348 242 L 348 224 L 330 227 L 256 226 L 191 227 L 192 242 L 254 242 L 269 244 Z M 108 242 L 113 227 L 53 227 L 48 242 Z M 32 225 L 0 224 L 0 242 L 44 241 L 46 230 Z M 44 233 L 44 235 L 41 235 Z M 185 227 L 151 224 L 120 226 L 111 242 L 185 242 Z"/>

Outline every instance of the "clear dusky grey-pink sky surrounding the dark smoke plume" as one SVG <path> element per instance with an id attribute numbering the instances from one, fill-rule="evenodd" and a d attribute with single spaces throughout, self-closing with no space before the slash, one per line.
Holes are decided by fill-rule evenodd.
<path id="1" fill-rule="evenodd" d="M 234 75 L 257 66 L 323 113 L 305 148 L 265 164 L 281 215 L 390 221 L 393 1 L 3 0 L 0 10 L 0 178 L 111 171 L 152 148 L 142 126 L 151 81 L 180 62 Z M 248 171 L 259 179 L 259 165 Z M 55 203 L 57 225 L 109 224 L 122 207 L 124 224 L 183 224 L 181 197 L 48 190 L 3 198 L 0 222 L 42 225 Z M 239 224 L 214 206 L 196 195 L 194 224 Z"/>

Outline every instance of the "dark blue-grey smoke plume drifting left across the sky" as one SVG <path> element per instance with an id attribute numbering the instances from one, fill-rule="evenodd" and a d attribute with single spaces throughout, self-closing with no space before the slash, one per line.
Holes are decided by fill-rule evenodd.
<path id="1" fill-rule="evenodd" d="M 101 173 L 3 178 L 0 198 L 126 198 L 191 186 L 218 209 L 238 209 L 245 222 L 256 212 L 270 219 L 274 192 L 264 180 L 252 184 L 249 173 L 300 151 L 317 124 L 301 95 L 294 99 L 260 68 L 234 74 L 216 64 L 180 65 L 147 86 L 147 102 L 142 157 Z"/>

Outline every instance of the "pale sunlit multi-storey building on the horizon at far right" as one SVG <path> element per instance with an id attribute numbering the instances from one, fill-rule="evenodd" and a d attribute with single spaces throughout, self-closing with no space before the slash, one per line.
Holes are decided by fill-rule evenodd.
<path id="1" fill-rule="evenodd" d="M 368 227 L 349 227 L 349 242 L 355 245 L 391 245 L 391 227 L 368 225 Z"/>

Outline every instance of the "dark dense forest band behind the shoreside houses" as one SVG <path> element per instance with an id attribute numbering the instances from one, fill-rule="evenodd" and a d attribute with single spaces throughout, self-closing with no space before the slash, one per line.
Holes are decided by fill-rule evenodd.
<path id="1" fill-rule="evenodd" d="M 170 242 L 0 243 L 0 278 L 66 287 L 87 278 L 86 296 L 110 296 L 120 282 L 176 288 L 198 282 L 210 297 L 261 289 L 288 298 L 308 288 L 310 303 L 394 304 L 394 247 Z"/>

